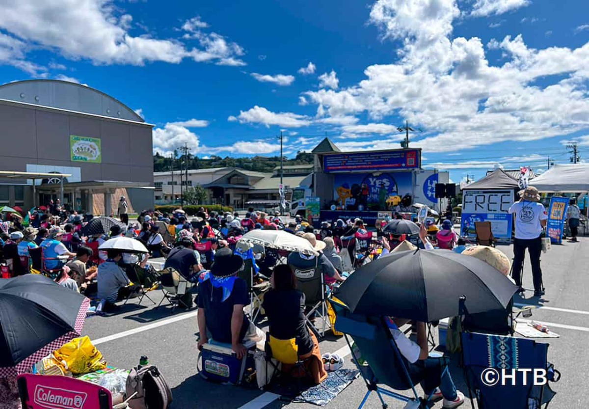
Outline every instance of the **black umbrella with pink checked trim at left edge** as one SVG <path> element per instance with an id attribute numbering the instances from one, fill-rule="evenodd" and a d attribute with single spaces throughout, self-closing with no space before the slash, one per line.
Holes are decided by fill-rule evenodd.
<path id="1" fill-rule="evenodd" d="M 0 377 L 27 372 L 80 337 L 88 306 L 88 298 L 42 275 L 0 280 Z"/>

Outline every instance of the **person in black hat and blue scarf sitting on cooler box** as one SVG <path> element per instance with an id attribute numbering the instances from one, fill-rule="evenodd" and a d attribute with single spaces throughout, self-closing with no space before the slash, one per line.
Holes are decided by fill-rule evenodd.
<path id="1" fill-rule="evenodd" d="M 231 344 L 237 358 L 247 353 L 243 342 L 264 340 L 264 332 L 247 318 L 243 308 L 250 304 L 247 283 L 237 277 L 243 265 L 240 256 L 229 248 L 220 249 L 211 271 L 200 277 L 198 285 L 198 347 L 209 342 Z"/>

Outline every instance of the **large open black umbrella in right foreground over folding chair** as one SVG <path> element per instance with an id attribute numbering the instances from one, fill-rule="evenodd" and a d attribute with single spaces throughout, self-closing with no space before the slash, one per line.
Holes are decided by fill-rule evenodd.
<path id="1" fill-rule="evenodd" d="M 484 261 L 448 250 L 392 253 L 356 270 L 334 295 L 351 312 L 430 322 L 505 309 L 517 291 Z"/>

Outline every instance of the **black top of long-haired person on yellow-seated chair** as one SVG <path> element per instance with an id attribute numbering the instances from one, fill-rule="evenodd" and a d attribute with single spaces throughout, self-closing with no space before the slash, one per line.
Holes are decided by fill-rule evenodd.
<path id="1" fill-rule="evenodd" d="M 278 339 L 297 339 L 299 355 L 312 351 L 313 341 L 305 324 L 305 294 L 292 290 L 270 290 L 263 302 L 270 324 L 270 335 Z"/>

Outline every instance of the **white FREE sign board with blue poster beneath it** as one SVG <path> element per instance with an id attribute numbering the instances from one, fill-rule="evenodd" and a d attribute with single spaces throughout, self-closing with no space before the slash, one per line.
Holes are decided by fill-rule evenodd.
<path id="1" fill-rule="evenodd" d="M 464 190 L 462 193 L 462 236 L 476 236 L 475 222 L 491 222 L 495 238 L 511 239 L 513 216 L 509 206 L 513 190 Z"/>

